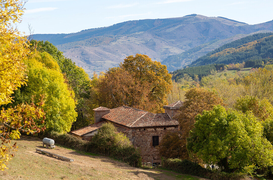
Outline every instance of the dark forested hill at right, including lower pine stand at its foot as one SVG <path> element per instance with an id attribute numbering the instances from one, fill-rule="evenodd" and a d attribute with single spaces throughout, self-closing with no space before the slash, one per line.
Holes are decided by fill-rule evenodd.
<path id="1" fill-rule="evenodd" d="M 226 64 L 245 62 L 245 67 L 263 67 L 273 58 L 273 33 L 259 33 L 227 43 L 198 58 L 190 67 L 171 72 L 175 81 L 187 74 L 201 79 L 212 70 L 223 70 Z"/>

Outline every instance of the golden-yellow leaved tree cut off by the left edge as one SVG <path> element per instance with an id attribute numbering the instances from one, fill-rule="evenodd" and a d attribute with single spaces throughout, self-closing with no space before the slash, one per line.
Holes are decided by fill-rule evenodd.
<path id="1" fill-rule="evenodd" d="M 26 83 L 26 71 L 23 61 L 30 54 L 27 39 L 21 36 L 16 23 L 20 22 L 23 13 L 23 0 L 0 0 L 0 105 L 12 102 L 12 94 Z M 13 108 L 2 108 L 0 112 L 0 170 L 16 151 L 12 139 L 20 138 L 20 131 L 27 134 L 44 130 L 36 123 L 43 123 L 45 113 L 43 96 L 38 104 L 20 104 Z M 41 127 L 41 126 L 40 126 Z"/>

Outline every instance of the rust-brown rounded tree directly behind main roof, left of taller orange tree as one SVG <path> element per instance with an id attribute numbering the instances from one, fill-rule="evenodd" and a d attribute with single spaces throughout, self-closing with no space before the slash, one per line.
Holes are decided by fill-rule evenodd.
<path id="1" fill-rule="evenodd" d="M 122 68 L 111 68 L 101 74 L 97 88 L 99 104 L 105 107 L 126 105 L 147 110 L 153 106 L 148 99 L 148 84 L 136 81 L 132 74 Z"/>

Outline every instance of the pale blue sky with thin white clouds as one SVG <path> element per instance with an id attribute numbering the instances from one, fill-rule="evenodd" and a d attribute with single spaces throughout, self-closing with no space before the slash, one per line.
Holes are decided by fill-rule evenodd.
<path id="1" fill-rule="evenodd" d="M 21 32 L 76 33 L 139 19 L 162 19 L 201 14 L 227 17 L 248 24 L 273 19 L 272 0 L 28 0 Z"/>

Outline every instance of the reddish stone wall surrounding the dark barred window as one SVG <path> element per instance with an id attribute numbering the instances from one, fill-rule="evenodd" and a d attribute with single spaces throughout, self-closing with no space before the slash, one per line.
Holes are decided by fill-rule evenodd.
<path id="1" fill-rule="evenodd" d="M 144 130 L 145 129 L 145 130 Z M 174 127 L 160 127 L 160 128 L 134 128 L 132 131 L 126 133 L 128 138 L 133 142 L 135 147 L 139 147 L 141 150 L 142 159 L 153 159 L 154 163 L 161 163 L 160 155 L 158 154 L 157 147 L 152 146 L 152 137 L 159 136 L 159 143 L 162 140 L 164 134 L 169 131 L 178 130 L 178 126 Z"/>

